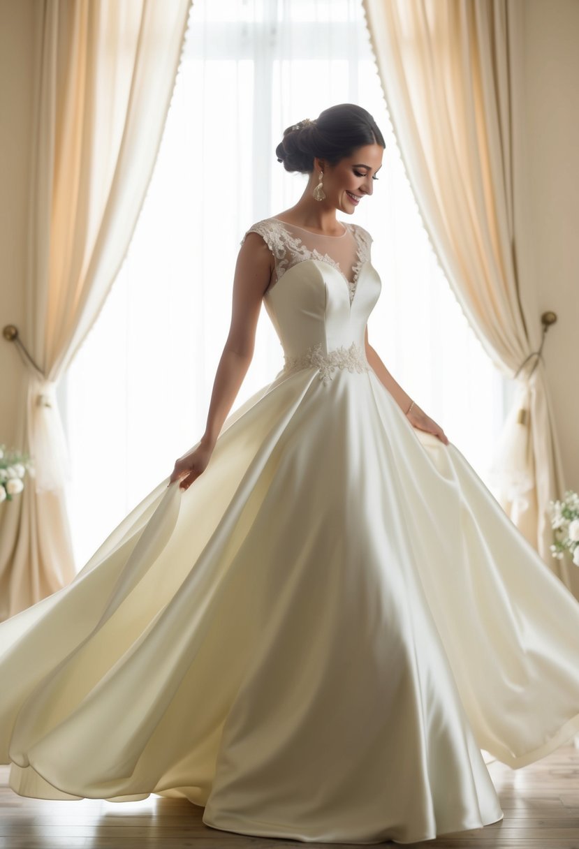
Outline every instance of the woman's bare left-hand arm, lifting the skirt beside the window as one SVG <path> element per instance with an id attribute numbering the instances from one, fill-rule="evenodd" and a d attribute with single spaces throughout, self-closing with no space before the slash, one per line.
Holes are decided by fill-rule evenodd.
<path id="1" fill-rule="evenodd" d="M 273 256 L 266 243 L 258 233 L 248 233 L 235 266 L 231 323 L 213 382 L 205 433 L 199 447 L 176 461 L 169 481 L 183 478 L 182 489 L 187 489 L 209 463 L 217 437 L 250 367 L 261 300 L 272 272 Z"/>

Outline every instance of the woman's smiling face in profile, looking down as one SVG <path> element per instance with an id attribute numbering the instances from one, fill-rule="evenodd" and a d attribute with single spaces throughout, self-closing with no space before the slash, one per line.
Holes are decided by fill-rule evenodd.
<path id="1" fill-rule="evenodd" d="M 380 144 L 366 144 L 334 166 L 315 159 L 314 185 L 318 184 L 319 172 L 323 171 L 323 191 L 326 194 L 323 203 L 334 205 L 337 210 L 351 215 L 363 197 L 372 194 L 383 153 L 384 148 Z"/>

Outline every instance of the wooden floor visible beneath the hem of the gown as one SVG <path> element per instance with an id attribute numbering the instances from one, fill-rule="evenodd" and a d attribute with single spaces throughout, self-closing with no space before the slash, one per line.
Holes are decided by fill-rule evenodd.
<path id="1" fill-rule="evenodd" d="M 518 770 L 496 761 L 487 767 L 504 811 L 501 822 L 406 845 L 413 849 L 579 849 L 579 749 L 562 746 Z M 329 849 L 332 845 L 234 835 L 209 828 L 202 816 L 201 807 L 160 796 L 122 804 L 23 799 L 8 788 L 8 767 L 0 767 L 2 849 Z"/>

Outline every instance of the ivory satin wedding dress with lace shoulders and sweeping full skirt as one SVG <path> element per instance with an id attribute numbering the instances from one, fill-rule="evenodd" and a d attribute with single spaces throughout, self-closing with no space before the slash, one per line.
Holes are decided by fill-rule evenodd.
<path id="1" fill-rule="evenodd" d="M 216 829 L 410 843 L 503 818 L 482 751 L 523 767 L 579 732 L 579 604 L 369 367 L 381 284 L 344 228 L 250 228 L 284 368 L 193 486 L 162 481 L 0 626 L 17 793 L 185 796 Z"/>

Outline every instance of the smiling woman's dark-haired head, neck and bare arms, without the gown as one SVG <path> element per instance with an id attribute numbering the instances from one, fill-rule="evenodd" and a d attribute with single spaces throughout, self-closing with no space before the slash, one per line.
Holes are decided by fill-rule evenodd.
<path id="1" fill-rule="evenodd" d="M 300 233 L 340 237 L 345 224 L 337 221 L 336 212 L 340 210 L 352 215 L 360 201 L 372 195 L 373 184 L 378 180 L 376 175 L 382 165 L 385 142 L 372 117 L 364 113 L 365 110 L 352 104 L 326 110 L 325 125 L 322 125 L 327 127 L 324 136 L 318 131 L 318 122 L 308 119 L 285 131 L 284 141 L 276 150 L 278 161 L 284 163 L 287 171 L 310 172 L 310 178 L 300 200 L 272 220 L 289 225 L 288 231 L 294 233 L 295 238 Z M 314 136 L 316 133 L 318 138 Z M 314 155 L 314 151 L 318 155 Z M 250 232 L 254 232 L 254 228 Z M 231 327 L 216 372 L 205 434 L 199 447 L 177 460 L 171 474 L 171 483 L 181 479 L 183 489 L 191 486 L 209 463 L 217 436 L 253 356 L 261 301 L 276 272 L 275 255 L 269 249 L 267 237 L 260 236 L 259 228 L 255 232 L 255 236 L 245 239 L 239 251 L 233 279 Z M 324 243 L 324 239 L 320 241 L 324 249 L 331 245 Z M 352 248 L 355 249 L 355 245 L 351 245 Z M 300 256 L 298 250 L 298 261 Z M 407 413 L 413 426 L 435 434 L 447 444 L 447 437 L 439 425 L 412 401 L 387 371 L 368 343 L 368 330 L 365 351 L 368 362 L 396 403 Z"/>

